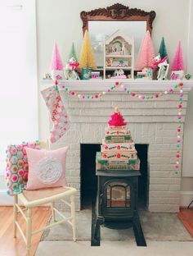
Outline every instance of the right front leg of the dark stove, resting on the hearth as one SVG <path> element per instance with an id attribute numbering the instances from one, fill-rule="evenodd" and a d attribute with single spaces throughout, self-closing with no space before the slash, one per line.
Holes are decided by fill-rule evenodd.
<path id="1" fill-rule="evenodd" d="M 143 235 L 139 216 L 133 217 L 132 228 L 135 234 L 137 246 L 146 246 L 146 240 Z"/>

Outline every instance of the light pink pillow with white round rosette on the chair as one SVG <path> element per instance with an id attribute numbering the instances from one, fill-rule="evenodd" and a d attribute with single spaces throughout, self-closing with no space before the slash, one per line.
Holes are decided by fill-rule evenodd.
<path id="1" fill-rule="evenodd" d="M 67 149 L 67 147 L 50 151 L 26 149 L 29 162 L 26 190 L 66 185 L 65 158 Z"/>

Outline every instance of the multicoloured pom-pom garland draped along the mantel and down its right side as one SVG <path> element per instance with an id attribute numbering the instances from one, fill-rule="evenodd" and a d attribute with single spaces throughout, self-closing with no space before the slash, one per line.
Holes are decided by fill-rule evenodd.
<path id="1" fill-rule="evenodd" d="M 57 81 L 55 82 L 56 89 L 58 87 Z M 160 98 L 164 96 L 165 94 L 173 94 L 176 90 L 178 90 L 178 104 L 177 104 L 177 154 L 176 154 L 176 162 L 175 162 L 175 174 L 179 174 L 179 167 L 180 167 L 180 144 L 181 144 L 181 131 L 182 131 L 182 100 L 183 100 L 183 83 L 180 82 L 177 85 L 173 85 L 170 89 L 165 90 L 164 92 L 158 92 L 153 95 L 146 95 L 146 94 L 137 94 L 134 92 L 131 92 L 128 86 L 122 85 L 122 82 L 116 81 L 114 85 L 110 86 L 109 89 L 107 89 L 104 92 L 101 93 L 95 93 L 95 94 L 79 94 L 75 92 L 74 90 L 70 90 L 66 85 L 60 84 L 60 89 L 64 90 L 66 93 L 70 94 L 71 96 L 76 96 L 80 99 L 98 99 L 101 98 L 106 93 L 110 93 L 116 88 L 122 88 L 123 91 L 127 94 L 129 94 L 131 97 L 140 98 L 142 100 L 153 100 L 156 98 Z"/>

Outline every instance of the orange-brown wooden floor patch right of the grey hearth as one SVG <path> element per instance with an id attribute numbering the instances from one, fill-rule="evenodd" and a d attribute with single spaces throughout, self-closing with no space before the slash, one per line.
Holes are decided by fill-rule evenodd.
<path id="1" fill-rule="evenodd" d="M 177 216 L 186 227 L 186 230 L 193 237 L 193 208 L 181 208 L 180 212 L 177 213 Z"/>

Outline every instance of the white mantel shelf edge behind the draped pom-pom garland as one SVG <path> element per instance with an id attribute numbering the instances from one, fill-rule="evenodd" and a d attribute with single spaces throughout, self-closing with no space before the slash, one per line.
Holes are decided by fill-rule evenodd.
<path id="1" fill-rule="evenodd" d="M 58 80 L 58 84 L 67 85 L 71 90 L 102 92 L 114 85 L 117 80 Z M 170 89 L 173 85 L 182 82 L 184 91 L 188 92 L 193 88 L 193 80 L 119 80 L 122 85 L 128 86 L 133 92 L 160 92 Z M 42 80 L 42 89 L 54 85 L 54 80 Z M 60 88 L 59 88 L 60 89 Z M 117 88 L 114 91 L 122 91 Z"/>

